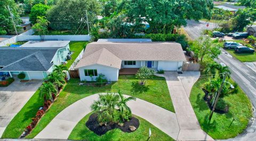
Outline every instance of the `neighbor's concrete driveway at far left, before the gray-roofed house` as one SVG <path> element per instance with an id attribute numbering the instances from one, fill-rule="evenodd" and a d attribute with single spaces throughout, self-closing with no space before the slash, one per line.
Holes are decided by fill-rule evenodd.
<path id="1" fill-rule="evenodd" d="M 19 79 L 15 79 L 8 87 L 0 87 L 0 137 L 42 82 L 42 80 L 20 82 Z"/>

